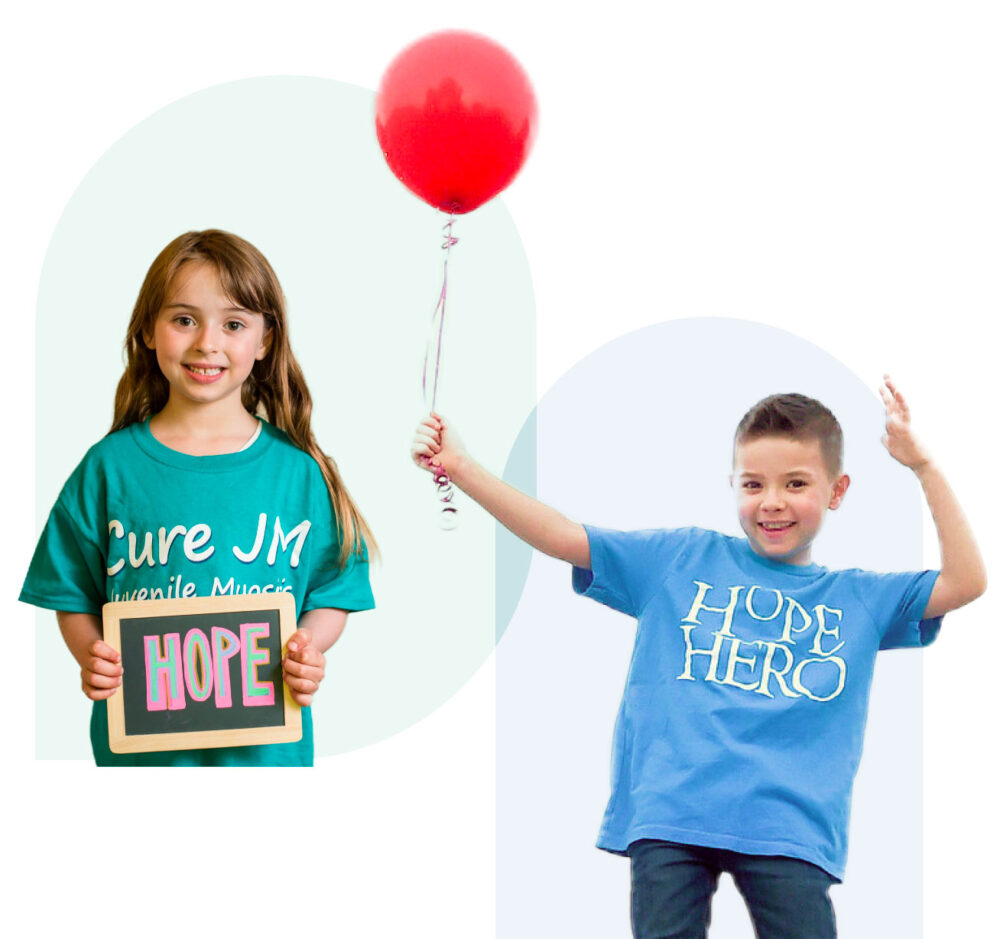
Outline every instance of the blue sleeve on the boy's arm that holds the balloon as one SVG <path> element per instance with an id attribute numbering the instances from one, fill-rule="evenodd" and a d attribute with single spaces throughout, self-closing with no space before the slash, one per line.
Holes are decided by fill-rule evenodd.
<path id="1" fill-rule="evenodd" d="M 638 616 L 663 583 L 689 531 L 583 527 L 590 542 L 591 569 L 573 568 L 573 589 L 629 616 Z"/>

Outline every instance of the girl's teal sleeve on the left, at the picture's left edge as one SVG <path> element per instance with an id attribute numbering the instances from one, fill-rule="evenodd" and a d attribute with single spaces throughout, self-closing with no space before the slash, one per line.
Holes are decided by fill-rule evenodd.
<path id="1" fill-rule="evenodd" d="M 35 547 L 19 600 L 47 610 L 100 615 L 105 557 L 73 520 L 60 496 Z"/>

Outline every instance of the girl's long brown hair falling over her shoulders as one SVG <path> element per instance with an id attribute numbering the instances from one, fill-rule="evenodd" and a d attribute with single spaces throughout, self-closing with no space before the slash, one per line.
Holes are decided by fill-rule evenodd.
<path id="1" fill-rule="evenodd" d="M 125 334 L 125 373 L 115 392 L 115 415 L 108 433 L 152 417 L 167 403 L 170 385 L 145 339 L 153 335 L 173 279 L 188 261 L 215 265 L 223 293 L 244 309 L 264 316 L 270 345 L 243 383 L 243 406 L 283 430 L 319 464 L 340 528 L 340 566 L 352 553 L 360 555 L 366 545 L 377 552 L 371 529 L 347 492 L 337 464 L 320 450 L 313 436 L 312 396 L 288 342 L 285 296 L 278 278 L 264 255 L 236 235 L 218 229 L 188 232 L 170 242 L 153 261 Z"/>

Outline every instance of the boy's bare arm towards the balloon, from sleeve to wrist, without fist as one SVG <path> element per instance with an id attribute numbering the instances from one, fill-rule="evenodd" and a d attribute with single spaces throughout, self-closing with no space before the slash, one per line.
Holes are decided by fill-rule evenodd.
<path id="1" fill-rule="evenodd" d="M 543 554 L 590 568 L 590 543 L 581 524 L 498 479 L 468 454 L 452 464 L 452 482 L 518 538 Z"/>

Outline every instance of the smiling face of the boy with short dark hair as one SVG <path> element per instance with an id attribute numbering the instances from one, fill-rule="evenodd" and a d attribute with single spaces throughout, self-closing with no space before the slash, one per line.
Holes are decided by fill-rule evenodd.
<path id="1" fill-rule="evenodd" d="M 850 479 L 830 475 L 816 439 L 758 437 L 736 445 L 730 482 L 750 547 L 774 561 L 808 564 L 823 516 L 840 505 Z"/>

